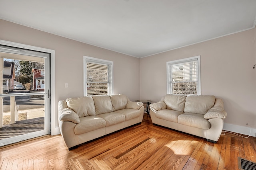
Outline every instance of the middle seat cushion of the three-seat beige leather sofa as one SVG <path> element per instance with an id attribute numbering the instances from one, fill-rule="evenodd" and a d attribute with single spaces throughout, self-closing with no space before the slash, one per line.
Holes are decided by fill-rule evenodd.
<path id="1" fill-rule="evenodd" d="M 106 127 L 110 125 L 115 125 L 125 121 L 125 115 L 117 112 L 103 113 L 97 115 L 98 117 L 102 117 L 106 121 Z"/>

